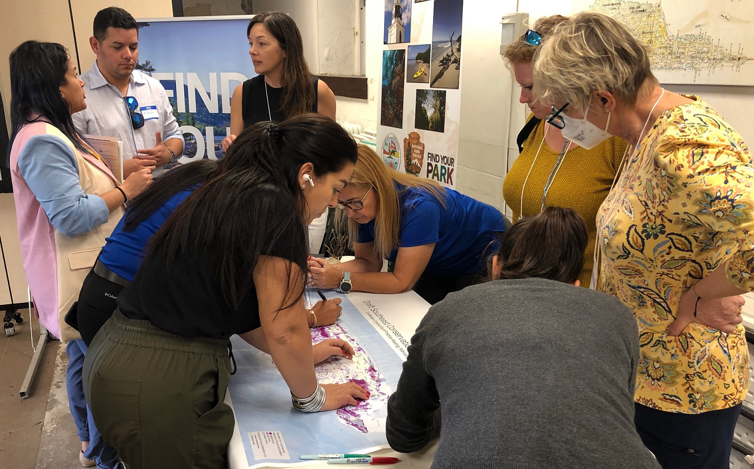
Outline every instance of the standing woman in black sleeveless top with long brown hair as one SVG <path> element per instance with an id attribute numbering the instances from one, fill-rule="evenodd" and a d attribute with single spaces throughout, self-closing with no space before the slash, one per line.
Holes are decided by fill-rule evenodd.
<path id="1" fill-rule="evenodd" d="M 262 120 L 281 122 L 306 112 L 335 120 L 335 95 L 309 72 L 301 33 L 290 16 L 265 11 L 251 19 L 246 32 L 259 75 L 233 91 L 231 135 L 222 140 L 223 151 L 241 130 Z"/>

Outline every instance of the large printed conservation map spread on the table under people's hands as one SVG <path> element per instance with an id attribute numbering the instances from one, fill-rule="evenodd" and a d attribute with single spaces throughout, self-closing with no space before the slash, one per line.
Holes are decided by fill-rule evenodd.
<path id="1" fill-rule="evenodd" d="M 336 293 L 326 291 L 326 295 L 333 298 Z M 248 466 L 289 467 L 302 463 L 302 454 L 364 452 L 386 446 L 388 397 L 403 369 L 406 345 L 426 309 L 415 315 L 412 327 L 400 324 L 399 330 L 389 319 L 391 314 L 400 315 L 399 311 L 382 312 L 369 300 L 360 300 L 362 313 L 348 297 L 338 296 L 342 298 L 341 318 L 336 324 L 312 329 L 312 340 L 338 337 L 351 343 L 356 354 L 353 360 L 332 357 L 318 364 L 317 378 L 321 383 L 356 382 L 369 391 L 369 400 L 333 412 L 299 413 L 291 406 L 287 385 L 271 356 L 234 337 L 238 372 L 231 377 L 228 400 Z"/>

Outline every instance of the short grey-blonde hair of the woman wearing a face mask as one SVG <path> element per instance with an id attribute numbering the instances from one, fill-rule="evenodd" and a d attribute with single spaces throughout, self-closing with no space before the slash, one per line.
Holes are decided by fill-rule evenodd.
<path id="1" fill-rule="evenodd" d="M 633 104 L 647 79 L 657 82 L 649 52 L 623 23 L 582 11 L 553 29 L 537 47 L 534 96 L 540 102 L 569 102 L 584 113 L 593 91 L 609 91 Z"/>

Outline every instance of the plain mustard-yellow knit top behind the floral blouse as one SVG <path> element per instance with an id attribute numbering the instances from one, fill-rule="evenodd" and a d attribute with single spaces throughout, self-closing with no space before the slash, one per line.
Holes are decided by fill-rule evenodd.
<path id="1" fill-rule="evenodd" d="M 529 119 L 533 115 L 529 115 Z M 542 142 L 543 140 L 544 121 L 539 123 L 529 139 L 526 139 L 523 151 L 505 175 L 503 198 L 513 211 L 513 221 L 520 218 L 521 187 L 529 169 L 532 169 L 532 172 L 524 187 L 523 215 L 529 216 L 541 212 L 544 187 L 550 179 L 561 151 L 561 148 L 553 151 L 547 146 L 547 142 Z M 542 144 L 541 149 L 540 144 Z M 588 288 L 592 277 L 597 209 L 610 191 L 615 180 L 615 172 L 618 171 L 621 157 L 627 146 L 627 142 L 618 137 L 611 137 L 591 150 L 572 145 L 563 157 L 557 174 L 547 190 L 546 206 L 575 209 L 587 222 L 589 245 L 584 254 L 584 268 L 578 276 L 582 287 Z M 537 155 L 538 149 L 539 155 Z"/>

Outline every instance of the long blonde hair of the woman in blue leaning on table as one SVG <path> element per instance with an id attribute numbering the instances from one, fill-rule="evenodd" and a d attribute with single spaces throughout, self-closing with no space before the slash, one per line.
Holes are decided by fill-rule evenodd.
<path id="1" fill-rule="evenodd" d="M 395 183 L 403 187 L 418 187 L 426 190 L 445 205 L 445 189 L 431 179 L 418 178 L 389 168 L 382 159 L 366 145 L 359 145 L 359 157 L 348 186 L 369 190 L 377 196 L 375 217 L 375 255 L 386 259 L 400 243 L 400 203 Z M 348 220 L 351 242 L 358 242 L 359 224 Z"/>

